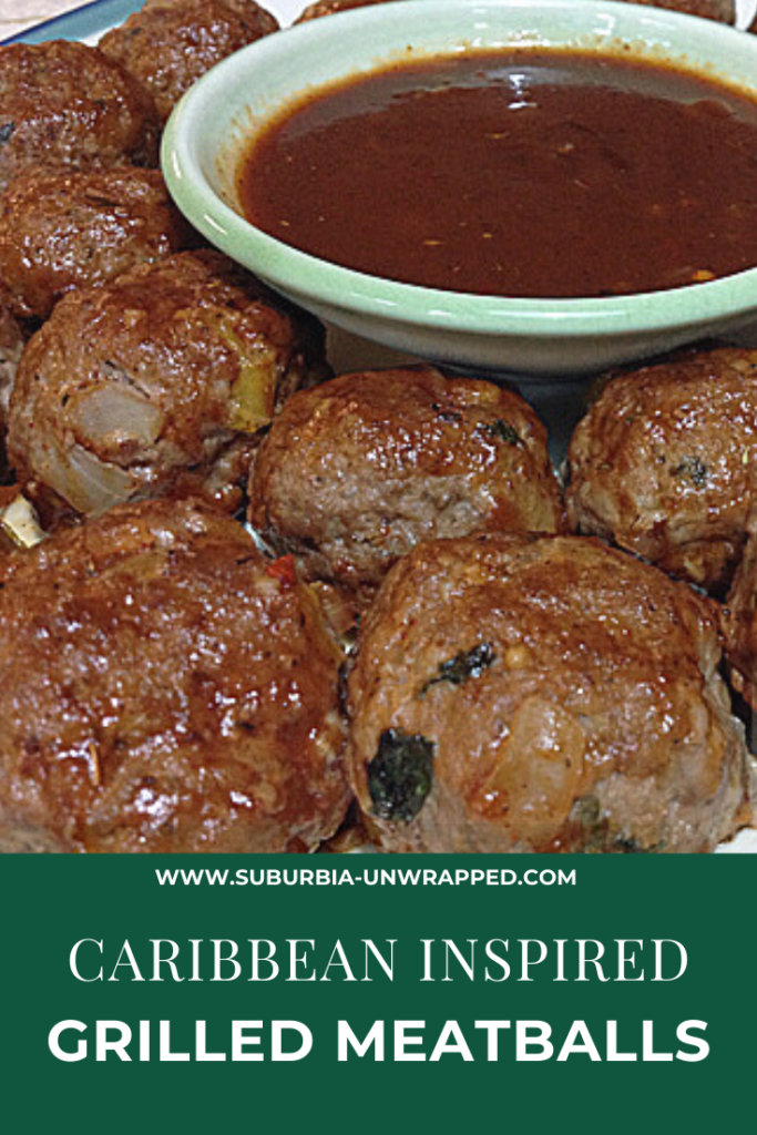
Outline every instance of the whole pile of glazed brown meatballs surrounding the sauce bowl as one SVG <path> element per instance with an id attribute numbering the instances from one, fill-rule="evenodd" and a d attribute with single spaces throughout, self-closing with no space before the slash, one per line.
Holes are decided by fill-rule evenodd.
<path id="1" fill-rule="evenodd" d="M 0 47 L 0 850 L 713 850 L 755 818 L 757 352 L 605 376 L 560 472 L 505 384 L 334 376 L 157 169 L 277 28 Z"/>

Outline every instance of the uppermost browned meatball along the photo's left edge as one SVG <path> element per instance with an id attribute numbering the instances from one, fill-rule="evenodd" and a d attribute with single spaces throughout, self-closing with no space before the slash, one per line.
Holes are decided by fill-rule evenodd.
<path id="1" fill-rule="evenodd" d="M 36 162 L 152 166 L 157 158 L 152 100 L 96 48 L 0 47 L 0 192 Z"/>

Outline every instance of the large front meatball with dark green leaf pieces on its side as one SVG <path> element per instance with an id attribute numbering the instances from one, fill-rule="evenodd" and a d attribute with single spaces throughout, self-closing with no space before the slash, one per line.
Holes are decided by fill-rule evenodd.
<path id="1" fill-rule="evenodd" d="M 705 851 L 749 819 L 717 623 L 594 539 L 481 533 L 387 575 L 347 767 L 390 851 Z"/>

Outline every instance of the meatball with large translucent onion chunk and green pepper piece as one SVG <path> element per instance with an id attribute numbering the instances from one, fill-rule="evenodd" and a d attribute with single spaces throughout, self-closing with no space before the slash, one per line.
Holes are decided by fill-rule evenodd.
<path id="1" fill-rule="evenodd" d="M 72 292 L 18 368 L 8 453 L 50 515 L 202 493 L 243 497 L 258 431 L 322 367 L 320 325 L 215 252 Z"/>

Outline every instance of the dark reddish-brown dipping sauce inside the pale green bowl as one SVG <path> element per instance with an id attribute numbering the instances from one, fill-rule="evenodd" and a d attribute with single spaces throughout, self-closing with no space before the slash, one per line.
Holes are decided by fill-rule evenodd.
<path id="1" fill-rule="evenodd" d="M 757 264 L 757 101 L 622 56 L 435 57 L 289 107 L 238 192 L 272 236 L 409 284 L 680 287 Z"/>

